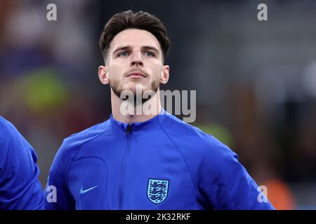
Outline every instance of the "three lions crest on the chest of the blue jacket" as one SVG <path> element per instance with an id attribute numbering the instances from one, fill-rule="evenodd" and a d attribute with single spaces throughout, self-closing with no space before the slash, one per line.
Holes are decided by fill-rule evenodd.
<path id="1" fill-rule="evenodd" d="M 147 197 L 150 202 L 159 204 L 166 200 L 168 195 L 169 181 L 149 179 L 147 186 Z"/>

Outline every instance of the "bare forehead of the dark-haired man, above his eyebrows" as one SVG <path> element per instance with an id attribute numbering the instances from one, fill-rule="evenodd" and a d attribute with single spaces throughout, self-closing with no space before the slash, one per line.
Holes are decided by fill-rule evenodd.
<path id="1" fill-rule="evenodd" d="M 115 48 L 124 45 L 130 45 L 132 47 L 151 45 L 160 49 L 160 44 L 157 38 L 144 29 L 124 29 L 114 36 L 110 43 L 110 49 L 114 50 Z"/>

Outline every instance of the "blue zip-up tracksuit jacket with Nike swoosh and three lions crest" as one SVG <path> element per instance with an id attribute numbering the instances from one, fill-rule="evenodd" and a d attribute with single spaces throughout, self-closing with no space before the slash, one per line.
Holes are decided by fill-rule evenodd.
<path id="1" fill-rule="evenodd" d="M 230 148 L 163 109 L 65 139 L 48 186 L 46 209 L 274 209 Z"/>

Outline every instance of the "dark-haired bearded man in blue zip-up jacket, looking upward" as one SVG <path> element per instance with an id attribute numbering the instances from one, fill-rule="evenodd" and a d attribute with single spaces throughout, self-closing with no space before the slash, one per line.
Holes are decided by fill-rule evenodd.
<path id="1" fill-rule="evenodd" d="M 258 200 L 235 153 L 162 109 L 159 83 L 169 79 L 162 22 L 142 11 L 118 13 L 100 48 L 105 65 L 98 73 L 110 84 L 112 115 L 65 139 L 47 184 L 57 198 L 46 209 L 273 209 Z M 145 104 L 151 113 L 133 113 Z"/>

